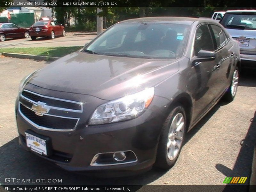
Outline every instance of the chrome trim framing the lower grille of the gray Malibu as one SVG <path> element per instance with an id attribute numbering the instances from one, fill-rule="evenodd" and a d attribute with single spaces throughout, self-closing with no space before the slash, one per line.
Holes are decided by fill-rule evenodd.
<path id="1" fill-rule="evenodd" d="M 60 117 L 60 118 L 66 118 L 66 119 L 76 119 L 76 125 L 73 129 L 52 129 L 52 128 L 48 128 L 48 127 L 43 127 L 43 126 L 40 126 L 38 124 L 35 124 L 34 122 L 32 122 L 30 119 L 28 119 L 25 115 L 23 115 L 23 113 L 20 111 L 20 105 L 23 105 L 24 107 L 32 110 L 31 108 L 27 107 L 26 105 L 24 105 L 23 103 L 19 102 L 19 107 L 18 107 L 18 110 L 19 110 L 19 113 L 20 115 L 31 125 L 33 125 L 34 127 L 36 127 L 37 129 L 41 129 L 41 130 L 46 130 L 46 131 L 61 131 L 61 132 L 68 132 L 68 131 L 74 131 L 76 129 L 76 126 L 80 120 L 80 118 L 74 118 L 74 117 L 65 117 L 65 116 L 55 116 L 55 115 L 50 115 L 50 114 L 44 114 L 44 115 L 48 115 L 48 116 L 54 116 L 54 117 Z M 34 111 L 34 110 L 32 110 Z"/>

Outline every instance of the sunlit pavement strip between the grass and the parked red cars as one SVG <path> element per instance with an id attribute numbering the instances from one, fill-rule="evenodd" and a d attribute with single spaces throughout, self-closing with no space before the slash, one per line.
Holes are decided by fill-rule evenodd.
<path id="1" fill-rule="evenodd" d="M 32 41 L 30 37 L 27 39 L 6 39 L 4 42 L 0 42 L 0 48 L 84 46 L 96 36 L 96 33 L 67 32 L 66 36 L 56 37 L 55 39 L 43 37 L 38 37 L 35 41 Z"/>

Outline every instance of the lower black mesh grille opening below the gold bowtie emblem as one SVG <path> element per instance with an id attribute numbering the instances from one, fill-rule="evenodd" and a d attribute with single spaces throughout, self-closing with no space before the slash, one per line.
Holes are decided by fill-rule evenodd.
<path id="1" fill-rule="evenodd" d="M 31 109 L 23 106 L 20 103 L 20 112 L 28 118 L 31 122 L 37 126 L 48 128 L 48 129 L 61 129 L 61 130 L 71 130 L 76 127 L 78 119 L 64 118 L 60 116 L 49 116 L 43 115 L 38 116 Z"/>

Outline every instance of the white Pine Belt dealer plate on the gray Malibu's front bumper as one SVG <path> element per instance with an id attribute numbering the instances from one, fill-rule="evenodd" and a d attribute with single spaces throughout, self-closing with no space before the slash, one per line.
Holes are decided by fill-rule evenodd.
<path id="1" fill-rule="evenodd" d="M 27 132 L 25 132 L 25 134 L 28 148 L 30 148 L 31 151 L 39 153 L 40 155 L 47 156 L 46 140 L 31 135 Z"/>

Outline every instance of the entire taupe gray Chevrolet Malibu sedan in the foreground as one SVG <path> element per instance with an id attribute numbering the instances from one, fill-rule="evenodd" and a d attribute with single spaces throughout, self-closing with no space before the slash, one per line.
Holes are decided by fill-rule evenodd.
<path id="1" fill-rule="evenodd" d="M 21 81 L 20 145 L 95 175 L 169 169 L 186 133 L 238 84 L 239 45 L 211 20 L 125 20 Z"/>

